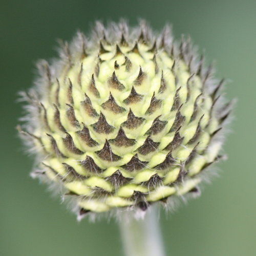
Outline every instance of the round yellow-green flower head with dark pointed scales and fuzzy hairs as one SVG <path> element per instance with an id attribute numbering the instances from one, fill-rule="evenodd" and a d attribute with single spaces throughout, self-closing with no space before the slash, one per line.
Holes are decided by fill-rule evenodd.
<path id="1" fill-rule="evenodd" d="M 230 104 L 188 39 L 96 23 L 38 68 L 20 132 L 36 151 L 33 176 L 60 184 L 78 216 L 199 194 Z"/>

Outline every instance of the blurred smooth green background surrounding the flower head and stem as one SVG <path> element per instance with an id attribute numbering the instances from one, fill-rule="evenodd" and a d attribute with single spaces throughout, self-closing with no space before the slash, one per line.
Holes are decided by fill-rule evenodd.
<path id="1" fill-rule="evenodd" d="M 57 55 L 57 38 L 70 40 L 96 19 L 120 17 L 132 25 L 145 18 L 156 30 L 172 23 L 177 38 L 190 34 L 216 61 L 217 76 L 230 79 L 226 97 L 238 98 L 221 177 L 199 199 L 161 214 L 167 255 L 255 255 L 255 1 L 9 0 L 0 12 L 0 255 L 123 255 L 115 220 L 77 223 L 29 177 L 33 161 L 15 130 L 22 115 L 17 92 L 32 85 L 36 60 Z"/>

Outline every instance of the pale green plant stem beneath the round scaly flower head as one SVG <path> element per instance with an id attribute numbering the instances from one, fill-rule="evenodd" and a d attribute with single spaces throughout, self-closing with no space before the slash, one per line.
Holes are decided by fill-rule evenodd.
<path id="1" fill-rule="evenodd" d="M 164 256 L 157 208 L 147 209 L 144 219 L 136 220 L 123 212 L 120 219 L 125 256 Z"/>

